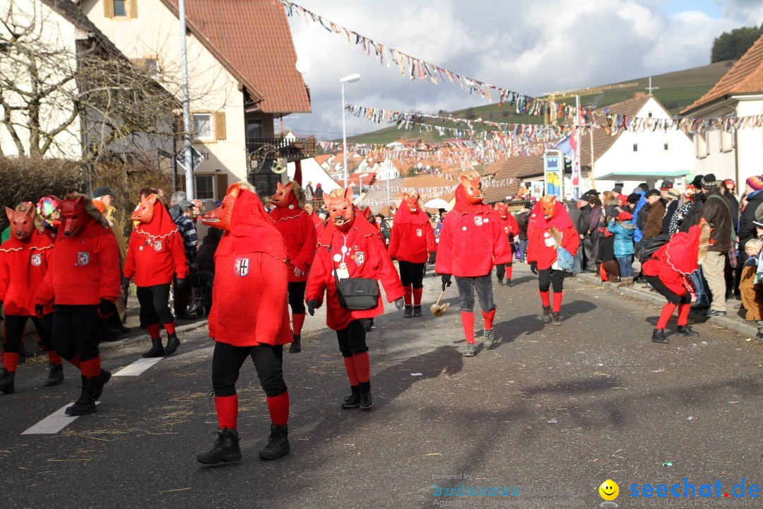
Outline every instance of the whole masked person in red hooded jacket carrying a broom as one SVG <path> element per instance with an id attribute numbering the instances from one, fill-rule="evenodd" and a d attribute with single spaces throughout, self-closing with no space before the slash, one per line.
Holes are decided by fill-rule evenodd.
<path id="1" fill-rule="evenodd" d="M 461 301 L 461 323 L 466 338 L 464 356 L 474 357 L 475 343 L 475 291 L 485 320 L 483 343 L 490 348 L 494 343 L 493 321 L 495 303 L 491 273 L 494 264 L 511 261 L 511 247 L 506 230 L 490 205 L 482 201 L 485 195 L 480 179 L 461 176 L 456 187 L 456 205 L 443 219 L 439 234 L 435 272 L 442 275 L 443 291 L 456 276 Z M 394 228 L 393 228 L 394 230 Z"/>

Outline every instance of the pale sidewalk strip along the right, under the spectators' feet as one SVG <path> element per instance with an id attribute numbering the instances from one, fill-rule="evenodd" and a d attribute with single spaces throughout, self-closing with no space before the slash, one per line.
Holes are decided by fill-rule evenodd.
<path id="1" fill-rule="evenodd" d="M 644 285 L 641 282 L 636 283 L 633 286 L 618 287 L 618 283 L 602 282 L 598 274 L 578 274 L 575 276 L 578 281 L 588 283 L 589 285 L 603 286 L 607 289 L 611 295 L 625 295 L 630 298 L 636 298 L 640 301 L 649 302 L 649 304 L 655 304 L 662 306 L 665 304 L 665 298 L 659 295 L 657 292 L 652 292 L 648 289 L 642 288 Z M 691 320 L 698 324 L 709 323 L 717 327 L 724 327 L 729 330 L 733 330 L 736 333 L 742 334 L 745 337 L 758 337 L 758 327 L 752 324 L 745 323 L 745 311 L 735 309 L 736 304 L 741 304 L 741 301 L 732 299 L 726 301 L 726 316 L 725 317 L 706 317 L 699 311 L 692 310 L 689 313 Z"/>

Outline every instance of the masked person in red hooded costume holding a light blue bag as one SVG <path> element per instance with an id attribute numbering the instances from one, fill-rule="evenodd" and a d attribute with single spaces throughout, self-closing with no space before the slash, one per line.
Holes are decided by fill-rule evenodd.
<path id="1" fill-rule="evenodd" d="M 565 269 L 571 269 L 572 258 L 578 253 L 580 237 L 572 224 L 564 206 L 554 195 L 545 195 L 530 212 L 527 224 L 527 263 L 530 270 L 538 275 L 540 301 L 543 306 L 544 324 L 562 325 L 562 295 L 564 292 Z M 571 255 L 570 266 L 560 265 L 559 248 Z M 554 289 L 551 303 L 549 287 Z"/>

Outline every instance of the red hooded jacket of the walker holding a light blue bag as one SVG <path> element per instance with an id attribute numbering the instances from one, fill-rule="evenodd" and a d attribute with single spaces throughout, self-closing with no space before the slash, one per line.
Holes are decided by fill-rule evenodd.
<path id="1" fill-rule="evenodd" d="M 530 221 L 527 222 L 527 263 L 536 262 L 539 270 L 549 269 L 556 261 L 557 246 L 550 231 L 552 227 L 562 235 L 562 247 L 572 256 L 578 253 L 580 236 L 564 205 L 557 201 L 554 217 L 547 220 L 538 201 L 530 212 Z"/>

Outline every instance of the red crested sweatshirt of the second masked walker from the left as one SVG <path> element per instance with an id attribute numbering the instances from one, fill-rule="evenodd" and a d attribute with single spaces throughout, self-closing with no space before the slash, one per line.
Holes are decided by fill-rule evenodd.
<path id="1" fill-rule="evenodd" d="M 59 231 L 35 303 L 47 305 L 55 299 L 56 305 L 85 306 L 97 305 L 101 298 L 113 302 L 119 287 L 117 238 L 92 220 L 76 237 Z"/>

